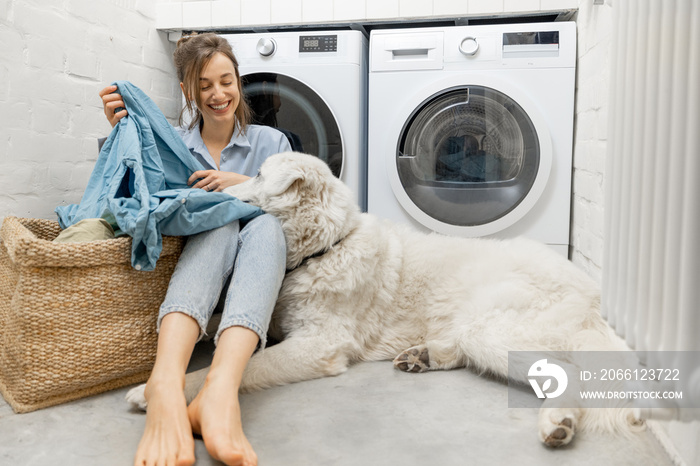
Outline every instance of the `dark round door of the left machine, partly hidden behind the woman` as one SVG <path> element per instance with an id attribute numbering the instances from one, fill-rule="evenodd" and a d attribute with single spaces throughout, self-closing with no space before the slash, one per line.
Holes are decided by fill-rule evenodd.
<path id="1" fill-rule="evenodd" d="M 279 73 L 242 76 L 243 94 L 252 111 L 253 124 L 284 133 L 296 152 L 325 161 L 340 178 L 343 141 L 335 116 L 326 102 L 309 86 Z"/>

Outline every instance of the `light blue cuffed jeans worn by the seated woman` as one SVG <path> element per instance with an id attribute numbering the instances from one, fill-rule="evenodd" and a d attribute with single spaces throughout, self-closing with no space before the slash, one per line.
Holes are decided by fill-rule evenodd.
<path id="1" fill-rule="evenodd" d="M 214 342 L 227 328 L 240 326 L 257 333 L 260 348 L 264 348 L 284 278 L 286 253 L 279 221 L 269 214 L 244 223 L 242 229 L 235 221 L 190 236 L 160 307 L 158 329 L 166 314 L 181 312 L 197 321 L 201 338 L 225 291 Z"/>

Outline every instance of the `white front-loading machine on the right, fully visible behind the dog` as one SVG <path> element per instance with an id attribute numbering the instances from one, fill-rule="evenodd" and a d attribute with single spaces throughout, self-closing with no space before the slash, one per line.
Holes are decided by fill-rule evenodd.
<path id="1" fill-rule="evenodd" d="M 568 255 L 573 22 L 374 30 L 368 211 Z"/>

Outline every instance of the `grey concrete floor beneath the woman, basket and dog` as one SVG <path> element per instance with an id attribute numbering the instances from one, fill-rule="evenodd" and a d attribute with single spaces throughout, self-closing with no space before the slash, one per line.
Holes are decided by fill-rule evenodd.
<path id="1" fill-rule="evenodd" d="M 191 367 L 206 364 L 200 343 Z M 27 414 L 0 399 L 0 464 L 123 466 L 145 415 L 128 388 Z M 537 439 L 537 412 L 509 409 L 507 387 L 466 370 L 404 373 L 362 363 L 338 377 L 241 397 L 246 435 L 261 466 L 671 465 L 648 431 L 634 440 L 581 433 L 551 450 Z M 196 442 L 197 465 L 220 464 Z"/>

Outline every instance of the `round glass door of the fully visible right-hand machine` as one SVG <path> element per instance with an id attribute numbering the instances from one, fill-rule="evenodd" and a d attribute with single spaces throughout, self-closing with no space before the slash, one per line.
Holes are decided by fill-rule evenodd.
<path id="1" fill-rule="evenodd" d="M 549 155 L 514 99 L 486 86 L 452 87 L 406 121 L 393 188 L 404 208 L 435 231 L 488 235 L 519 220 L 529 208 L 524 202 L 536 201 Z"/>

